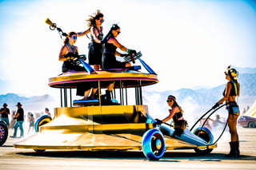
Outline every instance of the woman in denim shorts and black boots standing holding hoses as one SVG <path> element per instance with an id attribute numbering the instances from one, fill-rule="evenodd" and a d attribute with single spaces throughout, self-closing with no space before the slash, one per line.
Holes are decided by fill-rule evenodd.
<path id="1" fill-rule="evenodd" d="M 226 88 L 223 92 L 223 96 L 221 100 L 219 100 L 214 106 L 213 109 L 218 108 L 220 104 L 224 101 L 226 102 L 226 109 L 229 113 L 227 125 L 230 128 L 230 153 L 226 155 L 226 157 L 238 157 L 240 156 L 239 151 L 239 139 L 238 139 L 238 131 L 237 131 L 237 121 L 240 114 L 239 106 L 236 102 L 236 97 L 240 94 L 240 85 L 237 81 L 238 79 L 238 71 L 236 69 L 230 69 L 230 66 L 227 67 L 226 72 Z"/>

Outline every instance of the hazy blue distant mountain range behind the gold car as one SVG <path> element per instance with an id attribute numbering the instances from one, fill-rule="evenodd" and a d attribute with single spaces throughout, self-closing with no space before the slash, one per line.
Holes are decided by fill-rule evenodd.
<path id="1" fill-rule="evenodd" d="M 256 99 L 256 69 L 245 69 L 246 73 L 239 75 L 239 83 L 241 85 L 241 97 L 239 97 L 239 105 L 245 107 L 252 105 Z M 250 73 L 248 73 L 250 72 Z M 254 73 L 255 72 L 255 73 Z M 178 89 L 162 92 L 147 91 L 143 93 L 143 103 L 146 105 L 166 105 L 166 97 L 173 94 L 180 103 L 191 103 L 193 105 L 214 105 L 221 97 L 225 85 L 219 85 L 211 89 Z M 154 101 L 153 96 L 157 95 L 158 100 Z M 49 94 L 36 97 L 20 97 L 18 94 L 7 93 L 0 95 L 0 105 L 7 103 L 10 107 L 15 107 L 17 102 L 21 102 L 28 110 L 38 110 L 42 112 L 45 107 L 58 107 L 58 102 L 54 101 L 54 97 Z M 57 103 L 57 104 L 56 104 Z M 17 109 L 17 108 L 12 108 Z M 52 108 L 53 109 L 53 108 Z"/>

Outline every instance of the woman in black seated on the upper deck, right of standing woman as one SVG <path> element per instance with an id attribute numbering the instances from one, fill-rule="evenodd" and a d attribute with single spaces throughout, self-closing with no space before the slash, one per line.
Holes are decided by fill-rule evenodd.
<path id="1" fill-rule="evenodd" d="M 130 67 L 131 64 L 129 62 L 121 62 L 117 61 L 115 56 L 125 57 L 127 53 L 136 54 L 136 51 L 133 49 L 127 49 L 124 45 L 121 45 L 118 40 L 118 34 L 120 34 L 120 27 L 117 24 L 113 24 L 109 33 L 103 39 L 105 49 L 102 57 L 102 68 L 103 69 L 123 69 L 126 67 Z M 126 52 L 119 53 L 116 49 L 121 49 Z M 110 92 L 114 89 L 114 82 L 110 82 L 106 90 L 106 100 L 111 100 Z"/>

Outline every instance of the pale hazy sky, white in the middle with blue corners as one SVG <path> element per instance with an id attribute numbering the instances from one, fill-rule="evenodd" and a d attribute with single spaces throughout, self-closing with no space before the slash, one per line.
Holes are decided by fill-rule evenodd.
<path id="1" fill-rule="evenodd" d="M 105 35 L 118 23 L 119 42 L 141 50 L 158 73 L 154 90 L 221 85 L 227 65 L 255 67 L 253 1 L 0 1 L 0 94 L 51 93 L 48 78 L 61 73 L 63 43 L 45 19 L 65 32 L 78 32 L 87 29 L 85 20 L 97 9 L 105 15 Z M 88 53 L 89 42 L 86 36 L 78 38 L 79 53 Z"/>

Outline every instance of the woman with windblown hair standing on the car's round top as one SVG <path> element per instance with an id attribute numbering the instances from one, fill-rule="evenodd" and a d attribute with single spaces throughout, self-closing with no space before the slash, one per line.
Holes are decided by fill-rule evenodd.
<path id="1" fill-rule="evenodd" d="M 90 33 L 91 42 L 89 44 L 89 65 L 94 65 L 94 69 L 98 70 L 102 65 L 102 38 L 103 38 L 103 27 L 102 23 L 104 15 L 100 10 L 97 10 L 97 13 L 94 16 L 90 15 L 90 18 L 87 19 L 87 26 L 89 26 L 88 30 L 85 30 L 82 33 L 78 33 L 78 37 L 81 37 L 85 34 Z"/>

